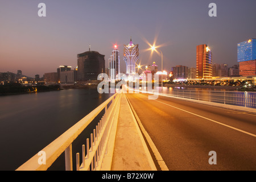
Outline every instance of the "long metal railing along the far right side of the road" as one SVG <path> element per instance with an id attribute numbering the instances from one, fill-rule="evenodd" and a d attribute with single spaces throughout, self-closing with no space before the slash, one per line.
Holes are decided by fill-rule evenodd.
<path id="1" fill-rule="evenodd" d="M 255 92 L 171 90 L 163 95 L 256 108 Z"/>

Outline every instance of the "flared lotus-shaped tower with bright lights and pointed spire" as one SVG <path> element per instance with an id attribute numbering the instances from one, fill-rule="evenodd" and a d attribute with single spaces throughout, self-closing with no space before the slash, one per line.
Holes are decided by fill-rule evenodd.
<path id="1" fill-rule="evenodd" d="M 136 73 L 136 63 L 139 59 L 139 44 L 130 43 L 123 46 L 123 60 L 126 63 L 126 74 Z"/>

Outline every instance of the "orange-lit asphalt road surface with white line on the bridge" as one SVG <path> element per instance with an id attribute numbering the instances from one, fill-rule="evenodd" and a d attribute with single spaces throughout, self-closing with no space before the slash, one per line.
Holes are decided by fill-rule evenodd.
<path id="1" fill-rule="evenodd" d="M 127 93 L 169 170 L 256 170 L 256 115 Z M 210 151 L 217 164 L 209 164 Z"/>

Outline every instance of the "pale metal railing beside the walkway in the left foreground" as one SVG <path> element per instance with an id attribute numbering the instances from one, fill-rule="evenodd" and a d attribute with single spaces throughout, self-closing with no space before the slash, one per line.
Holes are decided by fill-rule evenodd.
<path id="1" fill-rule="evenodd" d="M 108 139 L 110 130 L 113 125 L 114 119 L 117 118 L 116 114 L 119 109 L 120 94 L 115 93 L 112 97 L 82 118 L 70 129 L 65 131 L 60 137 L 55 139 L 48 146 L 43 148 L 46 154 L 46 162 L 39 163 L 39 155 L 34 155 L 26 163 L 20 166 L 16 171 L 46 171 L 53 162 L 65 151 L 65 169 L 66 171 L 73 170 L 72 162 L 72 142 L 81 134 L 81 132 L 105 109 L 105 114 L 100 122 L 90 134 L 90 139 L 86 139 L 85 145 L 82 145 L 82 164 L 80 165 L 80 154 L 76 154 L 76 169 L 77 170 L 100 170 L 104 155 L 108 152 Z M 109 105 L 110 104 L 110 105 Z M 109 107 L 108 107 L 109 105 Z M 86 151 L 86 156 L 85 156 Z"/>

